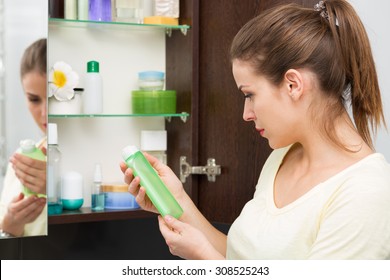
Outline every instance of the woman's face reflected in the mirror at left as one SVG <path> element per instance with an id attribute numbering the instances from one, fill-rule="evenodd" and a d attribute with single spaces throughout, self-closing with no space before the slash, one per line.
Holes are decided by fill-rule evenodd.
<path id="1" fill-rule="evenodd" d="M 29 72 L 22 78 L 22 86 L 34 121 L 46 133 L 46 75 L 37 71 Z"/>

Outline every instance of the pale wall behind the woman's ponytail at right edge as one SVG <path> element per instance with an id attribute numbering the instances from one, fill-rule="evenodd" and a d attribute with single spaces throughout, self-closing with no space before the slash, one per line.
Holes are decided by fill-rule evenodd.
<path id="1" fill-rule="evenodd" d="M 377 66 L 379 85 L 387 125 L 390 128 L 390 2 L 386 0 L 351 0 L 366 27 Z M 385 129 L 378 131 L 376 149 L 390 162 L 390 133 Z"/>

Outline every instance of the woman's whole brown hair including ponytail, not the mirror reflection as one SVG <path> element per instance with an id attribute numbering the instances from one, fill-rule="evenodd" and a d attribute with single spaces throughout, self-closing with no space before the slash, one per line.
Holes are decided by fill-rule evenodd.
<path id="1" fill-rule="evenodd" d="M 386 126 L 369 39 L 345 0 L 323 1 L 319 10 L 296 4 L 266 10 L 237 33 L 230 54 L 232 60 L 250 62 L 275 85 L 289 69 L 315 73 L 321 92 L 329 97 L 325 135 L 340 147 L 349 150 L 337 137 L 334 120 L 347 102 L 358 133 L 371 147 L 370 132 L 376 134 L 381 123 Z"/>

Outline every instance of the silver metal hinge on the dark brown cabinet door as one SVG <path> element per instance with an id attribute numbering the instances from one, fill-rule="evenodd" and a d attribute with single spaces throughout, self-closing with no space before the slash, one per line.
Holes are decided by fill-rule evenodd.
<path id="1" fill-rule="evenodd" d="M 187 162 L 187 157 L 180 157 L 180 180 L 182 183 L 186 182 L 190 174 L 207 175 L 209 182 L 215 182 L 216 176 L 221 174 L 221 166 L 216 165 L 214 158 L 207 160 L 206 166 L 191 166 Z"/>

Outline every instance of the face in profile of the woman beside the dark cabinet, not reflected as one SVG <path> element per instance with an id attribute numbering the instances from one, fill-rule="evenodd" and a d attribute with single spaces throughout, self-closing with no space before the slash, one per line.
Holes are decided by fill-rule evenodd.
<path id="1" fill-rule="evenodd" d="M 271 148 L 281 148 L 296 141 L 299 122 L 294 114 L 288 85 L 275 86 L 255 74 L 245 61 L 233 61 L 233 75 L 245 98 L 243 118 L 253 121 L 256 130 Z"/>

